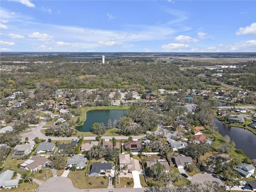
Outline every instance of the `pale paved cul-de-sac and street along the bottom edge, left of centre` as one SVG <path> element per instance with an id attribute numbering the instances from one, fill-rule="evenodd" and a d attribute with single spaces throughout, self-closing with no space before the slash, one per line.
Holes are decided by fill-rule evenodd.
<path id="1" fill-rule="evenodd" d="M 68 178 L 63 177 L 53 177 L 38 187 L 39 192 L 144 192 L 146 188 L 114 188 L 114 189 L 77 189 L 73 186 L 73 183 Z"/>

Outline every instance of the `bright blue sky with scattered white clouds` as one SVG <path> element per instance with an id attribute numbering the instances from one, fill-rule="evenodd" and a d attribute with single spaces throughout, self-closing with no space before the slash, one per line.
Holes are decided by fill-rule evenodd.
<path id="1" fill-rule="evenodd" d="M 1 51 L 256 52 L 256 1 L 32 1 L 0 5 Z"/>

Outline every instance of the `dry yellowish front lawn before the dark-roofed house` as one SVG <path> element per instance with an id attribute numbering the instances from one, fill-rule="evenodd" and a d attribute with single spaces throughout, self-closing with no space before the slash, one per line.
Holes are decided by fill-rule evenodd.
<path id="1" fill-rule="evenodd" d="M 85 177 L 85 172 L 85 170 L 72 171 L 68 174 L 68 178 L 73 182 L 74 187 L 78 189 L 100 189 L 108 187 L 108 177 L 106 179 L 103 177 Z"/>

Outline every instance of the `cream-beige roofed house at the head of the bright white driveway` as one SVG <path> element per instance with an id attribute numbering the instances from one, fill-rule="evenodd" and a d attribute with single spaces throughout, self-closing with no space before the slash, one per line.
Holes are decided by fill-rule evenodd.
<path id="1" fill-rule="evenodd" d="M 137 159 L 130 157 L 130 154 L 119 154 L 120 171 L 141 173 L 140 162 Z"/>

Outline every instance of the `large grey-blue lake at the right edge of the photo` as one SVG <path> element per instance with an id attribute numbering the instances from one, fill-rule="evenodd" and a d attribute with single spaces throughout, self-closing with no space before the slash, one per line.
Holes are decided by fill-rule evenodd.
<path id="1" fill-rule="evenodd" d="M 256 135 L 251 131 L 241 127 L 229 126 L 221 123 L 214 118 L 214 123 L 218 127 L 218 132 L 222 135 L 228 135 L 231 140 L 235 141 L 236 148 L 241 149 L 250 158 L 256 158 Z"/>

